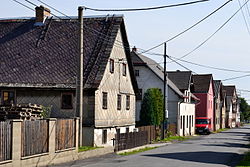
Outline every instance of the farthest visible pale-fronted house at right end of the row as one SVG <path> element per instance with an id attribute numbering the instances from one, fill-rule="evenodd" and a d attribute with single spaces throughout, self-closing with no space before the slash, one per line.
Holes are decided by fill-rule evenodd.
<path id="1" fill-rule="evenodd" d="M 223 86 L 226 91 L 227 112 L 226 112 L 226 127 L 233 128 L 239 123 L 239 101 L 234 85 Z"/>

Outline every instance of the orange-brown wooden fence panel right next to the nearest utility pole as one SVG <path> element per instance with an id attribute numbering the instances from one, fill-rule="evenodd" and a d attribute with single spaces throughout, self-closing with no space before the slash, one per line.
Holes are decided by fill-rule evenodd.
<path id="1" fill-rule="evenodd" d="M 74 119 L 56 121 L 56 151 L 75 147 L 76 122 Z"/>

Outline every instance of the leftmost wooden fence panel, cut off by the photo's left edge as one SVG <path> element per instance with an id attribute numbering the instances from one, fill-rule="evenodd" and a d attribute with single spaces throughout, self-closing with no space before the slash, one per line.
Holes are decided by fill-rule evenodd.
<path id="1" fill-rule="evenodd" d="M 12 155 L 12 123 L 0 122 L 0 161 L 10 160 Z"/>

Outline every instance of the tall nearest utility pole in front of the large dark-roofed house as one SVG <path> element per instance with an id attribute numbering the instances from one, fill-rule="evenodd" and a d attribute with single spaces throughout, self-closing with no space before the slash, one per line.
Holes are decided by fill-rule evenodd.
<path id="1" fill-rule="evenodd" d="M 76 111 L 80 117 L 79 120 L 79 146 L 82 146 L 82 124 L 83 124 L 83 7 L 78 7 L 79 20 L 79 40 L 78 40 L 78 66 L 76 83 Z"/>

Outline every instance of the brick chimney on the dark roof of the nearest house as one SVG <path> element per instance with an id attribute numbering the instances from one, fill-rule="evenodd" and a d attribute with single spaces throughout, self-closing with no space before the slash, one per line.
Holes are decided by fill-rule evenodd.
<path id="1" fill-rule="evenodd" d="M 42 5 L 36 7 L 36 25 L 43 25 L 45 19 L 50 16 L 50 10 Z"/>

